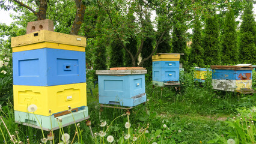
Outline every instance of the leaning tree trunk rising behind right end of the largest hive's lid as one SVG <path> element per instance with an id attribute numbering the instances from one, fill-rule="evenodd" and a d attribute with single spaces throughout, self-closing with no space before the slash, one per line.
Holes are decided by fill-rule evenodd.
<path id="1" fill-rule="evenodd" d="M 75 2 L 76 2 L 76 18 L 74 20 L 70 34 L 78 35 L 79 29 L 84 20 L 86 7 L 84 4 L 82 4 L 81 0 L 75 0 Z"/>

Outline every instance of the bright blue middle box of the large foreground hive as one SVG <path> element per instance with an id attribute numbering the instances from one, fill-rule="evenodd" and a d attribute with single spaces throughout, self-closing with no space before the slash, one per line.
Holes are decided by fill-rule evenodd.
<path id="1" fill-rule="evenodd" d="M 53 86 L 85 82 L 85 52 L 44 48 L 13 53 L 14 85 Z"/>

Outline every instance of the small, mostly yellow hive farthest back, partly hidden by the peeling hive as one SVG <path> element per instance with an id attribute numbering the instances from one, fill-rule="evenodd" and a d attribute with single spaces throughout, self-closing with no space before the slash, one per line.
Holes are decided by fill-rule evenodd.
<path id="1" fill-rule="evenodd" d="M 197 82 L 204 82 L 207 76 L 207 73 L 212 73 L 212 70 L 210 68 L 200 68 L 195 67 L 195 81 Z"/>

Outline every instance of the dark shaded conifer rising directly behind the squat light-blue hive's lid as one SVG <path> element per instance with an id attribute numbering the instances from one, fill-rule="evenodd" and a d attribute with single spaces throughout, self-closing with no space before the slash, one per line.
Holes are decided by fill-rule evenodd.
<path id="1" fill-rule="evenodd" d="M 123 55 L 121 42 L 114 40 L 111 43 L 110 67 L 123 67 Z"/>

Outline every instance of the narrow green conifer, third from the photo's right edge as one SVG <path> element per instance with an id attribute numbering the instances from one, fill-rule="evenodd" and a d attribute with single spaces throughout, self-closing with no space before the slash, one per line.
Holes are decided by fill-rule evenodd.
<path id="1" fill-rule="evenodd" d="M 219 46 L 219 25 L 216 16 L 206 18 L 204 33 L 204 64 L 219 65 L 221 62 L 221 50 Z"/>

